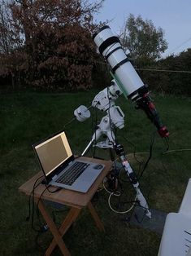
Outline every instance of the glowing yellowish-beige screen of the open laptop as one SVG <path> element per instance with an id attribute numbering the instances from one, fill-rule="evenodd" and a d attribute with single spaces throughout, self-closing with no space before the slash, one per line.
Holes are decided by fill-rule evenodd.
<path id="1" fill-rule="evenodd" d="M 37 144 L 34 148 L 46 176 L 72 157 L 72 150 L 64 131 Z"/>

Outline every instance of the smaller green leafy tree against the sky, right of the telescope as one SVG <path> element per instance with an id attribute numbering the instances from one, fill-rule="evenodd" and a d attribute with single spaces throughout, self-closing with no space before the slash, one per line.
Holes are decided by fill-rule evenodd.
<path id="1" fill-rule="evenodd" d="M 122 29 L 120 40 L 133 60 L 157 60 L 167 49 L 163 29 L 154 27 L 151 20 L 143 20 L 130 14 Z"/>

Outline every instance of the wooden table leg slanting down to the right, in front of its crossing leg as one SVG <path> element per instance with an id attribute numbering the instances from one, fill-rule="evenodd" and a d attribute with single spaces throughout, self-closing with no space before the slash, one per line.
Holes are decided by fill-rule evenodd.
<path id="1" fill-rule="evenodd" d="M 62 254 L 64 256 L 70 256 L 71 254 L 70 254 L 69 250 L 67 249 L 66 245 L 64 244 L 62 236 L 59 233 L 59 230 L 55 226 L 53 220 L 50 218 L 50 215 L 46 212 L 46 208 L 43 205 L 42 201 L 39 201 L 38 208 L 41 211 L 43 218 L 45 218 L 46 223 L 54 236 L 55 243 L 57 245 L 59 245 L 59 249 L 61 250 Z"/>

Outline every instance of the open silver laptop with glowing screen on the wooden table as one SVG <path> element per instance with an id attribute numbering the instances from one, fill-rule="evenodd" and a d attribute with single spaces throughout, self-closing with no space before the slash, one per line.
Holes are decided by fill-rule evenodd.
<path id="1" fill-rule="evenodd" d="M 75 159 L 64 131 L 33 144 L 47 184 L 87 192 L 104 165 Z"/>

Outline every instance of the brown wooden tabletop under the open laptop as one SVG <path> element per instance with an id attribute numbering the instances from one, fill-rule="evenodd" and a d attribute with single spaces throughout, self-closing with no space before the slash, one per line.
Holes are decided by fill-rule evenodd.
<path id="1" fill-rule="evenodd" d="M 112 162 L 111 161 L 103 161 L 100 159 L 89 158 L 89 157 L 80 157 L 81 160 L 88 160 L 95 163 L 100 163 L 105 165 L 105 168 L 102 170 L 101 174 L 99 174 L 98 178 L 95 180 L 89 191 L 86 193 L 75 192 L 68 189 L 61 189 L 59 192 L 51 193 L 47 190 L 41 196 L 41 193 L 45 190 L 46 186 L 40 184 L 34 191 L 34 196 L 41 199 L 45 199 L 48 201 L 57 202 L 64 205 L 75 206 L 77 208 L 84 207 L 88 205 L 89 201 L 92 199 L 94 193 L 98 190 L 99 184 L 102 183 L 102 180 L 106 177 L 106 174 L 111 170 Z M 42 171 L 33 176 L 32 179 L 29 179 L 26 183 L 20 186 L 20 192 L 24 192 L 26 195 L 30 195 L 33 191 L 33 185 L 35 181 L 41 177 Z M 39 179 L 39 183 L 44 179 L 44 176 Z M 50 190 L 54 191 L 55 187 L 50 187 Z"/>

